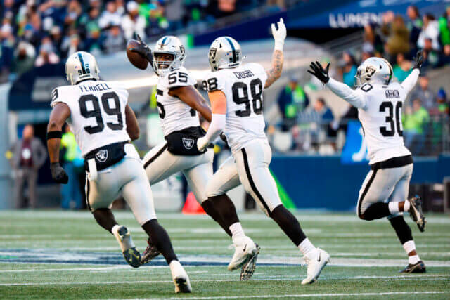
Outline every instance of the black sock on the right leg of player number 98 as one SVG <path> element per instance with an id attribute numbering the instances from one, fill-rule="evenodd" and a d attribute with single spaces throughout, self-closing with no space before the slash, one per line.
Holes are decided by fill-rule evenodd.
<path id="1" fill-rule="evenodd" d="M 278 226 L 284 231 L 286 235 L 293 241 L 295 246 L 298 246 L 305 238 L 300 223 L 295 216 L 284 207 L 284 205 L 278 205 L 271 213 L 270 217 L 276 221 Z"/>

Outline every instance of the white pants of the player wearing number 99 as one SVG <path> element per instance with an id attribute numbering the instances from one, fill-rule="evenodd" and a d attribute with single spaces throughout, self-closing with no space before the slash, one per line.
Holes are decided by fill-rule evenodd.
<path id="1" fill-rule="evenodd" d="M 125 145 L 125 152 L 127 155 L 120 162 L 98 171 L 96 181 L 89 181 L 86 176 L 86 202 L 91 211 L 108 208 L 122 193 L 142 226 L 156 219 L 152 190 L 134 145 Z"/>

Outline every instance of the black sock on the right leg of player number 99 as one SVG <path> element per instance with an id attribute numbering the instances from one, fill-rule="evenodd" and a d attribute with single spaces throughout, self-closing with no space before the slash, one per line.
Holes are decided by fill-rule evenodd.
<path id="1" fill-rule="evenodd" d="M 169 265 L 171 261 L 178 261 L 174 248 L 172 247 L 172 242 L 170 242 L 170 237 L 167 235 L 166 230 L 160 226 L 157 219 L 152 219 L 142 226 L 143 230 L 146 231 L 151 241 L 155 244 L 156 248 L 160 250 L 162 256 L 167 261 Z"/>

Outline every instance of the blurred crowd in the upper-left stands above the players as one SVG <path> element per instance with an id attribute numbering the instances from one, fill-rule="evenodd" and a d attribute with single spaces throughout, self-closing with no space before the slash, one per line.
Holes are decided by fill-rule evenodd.
<path id="1" fill-rule="evenodd" d="M 127 39 L 212 24 L 256 6 L 284 0 L 2 0 L 0 82 L 31 67 L 58 63 L 76 51 L 115 53 Z"/>

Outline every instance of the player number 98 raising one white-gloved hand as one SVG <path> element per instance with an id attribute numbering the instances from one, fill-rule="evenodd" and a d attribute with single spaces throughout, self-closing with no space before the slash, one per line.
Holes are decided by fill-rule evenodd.
<path id="1" fill-rule="evenodd" d="M 278 22 L 278 29 L 272 24 L 271 30 L 275 49 L 270 70 L 264 70 L 257 63 L 241 65 L 243 54 L 240 45 L 231 37 L 219 37 L 212 42 L 209 52 L 212 72 L 203 83 L 211 101 L 212 122 L 206 136 L 198 139 L 197 146 L 202 151 L 224 131 L 232 156 L 208 183 L 208 199 L 214 199 L 242 183 L 259 207 L 299 247 L 308 265 L 307 278 L 302 284 L 308 284 L 319 278 L 330 256 L 311 244 L 295 216 L 285 209 L 269 171 L 271 148 L 264 133 L 262 92 L 281 76 L 286 37 L 283 19 Z M 229 217 L 224 215 L 223 219 L 228 220 Z M 243 252 L 256 247 L 250 241 L 236 246 Z"/>

